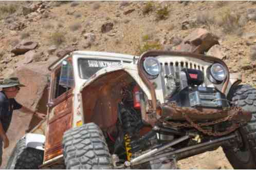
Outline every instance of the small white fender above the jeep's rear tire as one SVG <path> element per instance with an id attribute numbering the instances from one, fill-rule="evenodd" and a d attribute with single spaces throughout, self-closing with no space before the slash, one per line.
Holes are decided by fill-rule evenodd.
<path id="1" fill-rule="evenodd" d="M 40 134 L 26 134 L 26 147 L 44 150 L 45 136 Z"/>

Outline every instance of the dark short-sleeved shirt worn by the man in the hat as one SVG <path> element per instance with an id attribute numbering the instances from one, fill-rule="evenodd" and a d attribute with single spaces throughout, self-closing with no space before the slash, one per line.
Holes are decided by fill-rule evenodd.
<path id="1" fill-rule="evenodd" d="M 0 121 L 5 132 L 7 132 L 11 123 L 12 111 L 22 108 L 22 105 L 15 99 L 8 99 L 4 91 L 0 91 Z"/>

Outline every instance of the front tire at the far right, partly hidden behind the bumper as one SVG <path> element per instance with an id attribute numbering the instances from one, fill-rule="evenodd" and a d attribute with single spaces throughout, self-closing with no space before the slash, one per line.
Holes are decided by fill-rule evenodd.
<path id="1" fill-rule="evenodd" d="M 252 112 L 251 121 L 239 128 L 243 146 L 239 150 L 223 147 L 230 164 L 234 169 L 256 168 L 256 89 L 249 85 L 236 86 L 232 91 L 230 100 L 236 106 Z"/>

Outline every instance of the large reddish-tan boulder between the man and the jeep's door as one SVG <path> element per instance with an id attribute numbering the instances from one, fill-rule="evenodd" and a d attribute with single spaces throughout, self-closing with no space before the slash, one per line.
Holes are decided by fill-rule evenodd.
<path id="1" fill-rule="evenodd" d="M 20 82 L 26 86 L 21 88 L 15 98 L 16 101 L 32 110 L 38 110 L 44 114 L 47 113 L 47 85 L 49 84 L 49 71 L 47 67 L 56 59 L 57 58 L 52 57 L 52 59 L 47 62 L 30 63 L 26 66 L 21 66 L 10 75 L 18 77 Z M 4 149 L 1 169 L 4 169 L 6 166 L 16 141 L 24 136 L 25 131 L 33 128 L 40 121 L 39 118 L 35 116 L 32 117 L 30 114 L 24 114 L 17 110 L 13 112 L 11 125 L 7 132 L 10 145 L 8 148 Z"/>

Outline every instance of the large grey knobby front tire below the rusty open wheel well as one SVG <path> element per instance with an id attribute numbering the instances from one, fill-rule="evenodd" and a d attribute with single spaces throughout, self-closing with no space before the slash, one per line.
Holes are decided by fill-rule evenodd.
<path id="1" fill-rule="evenodd" d="M 63 136 L 66 169 L 112 169 L 111 155 L 95 123 L 72 128 Z"/>

